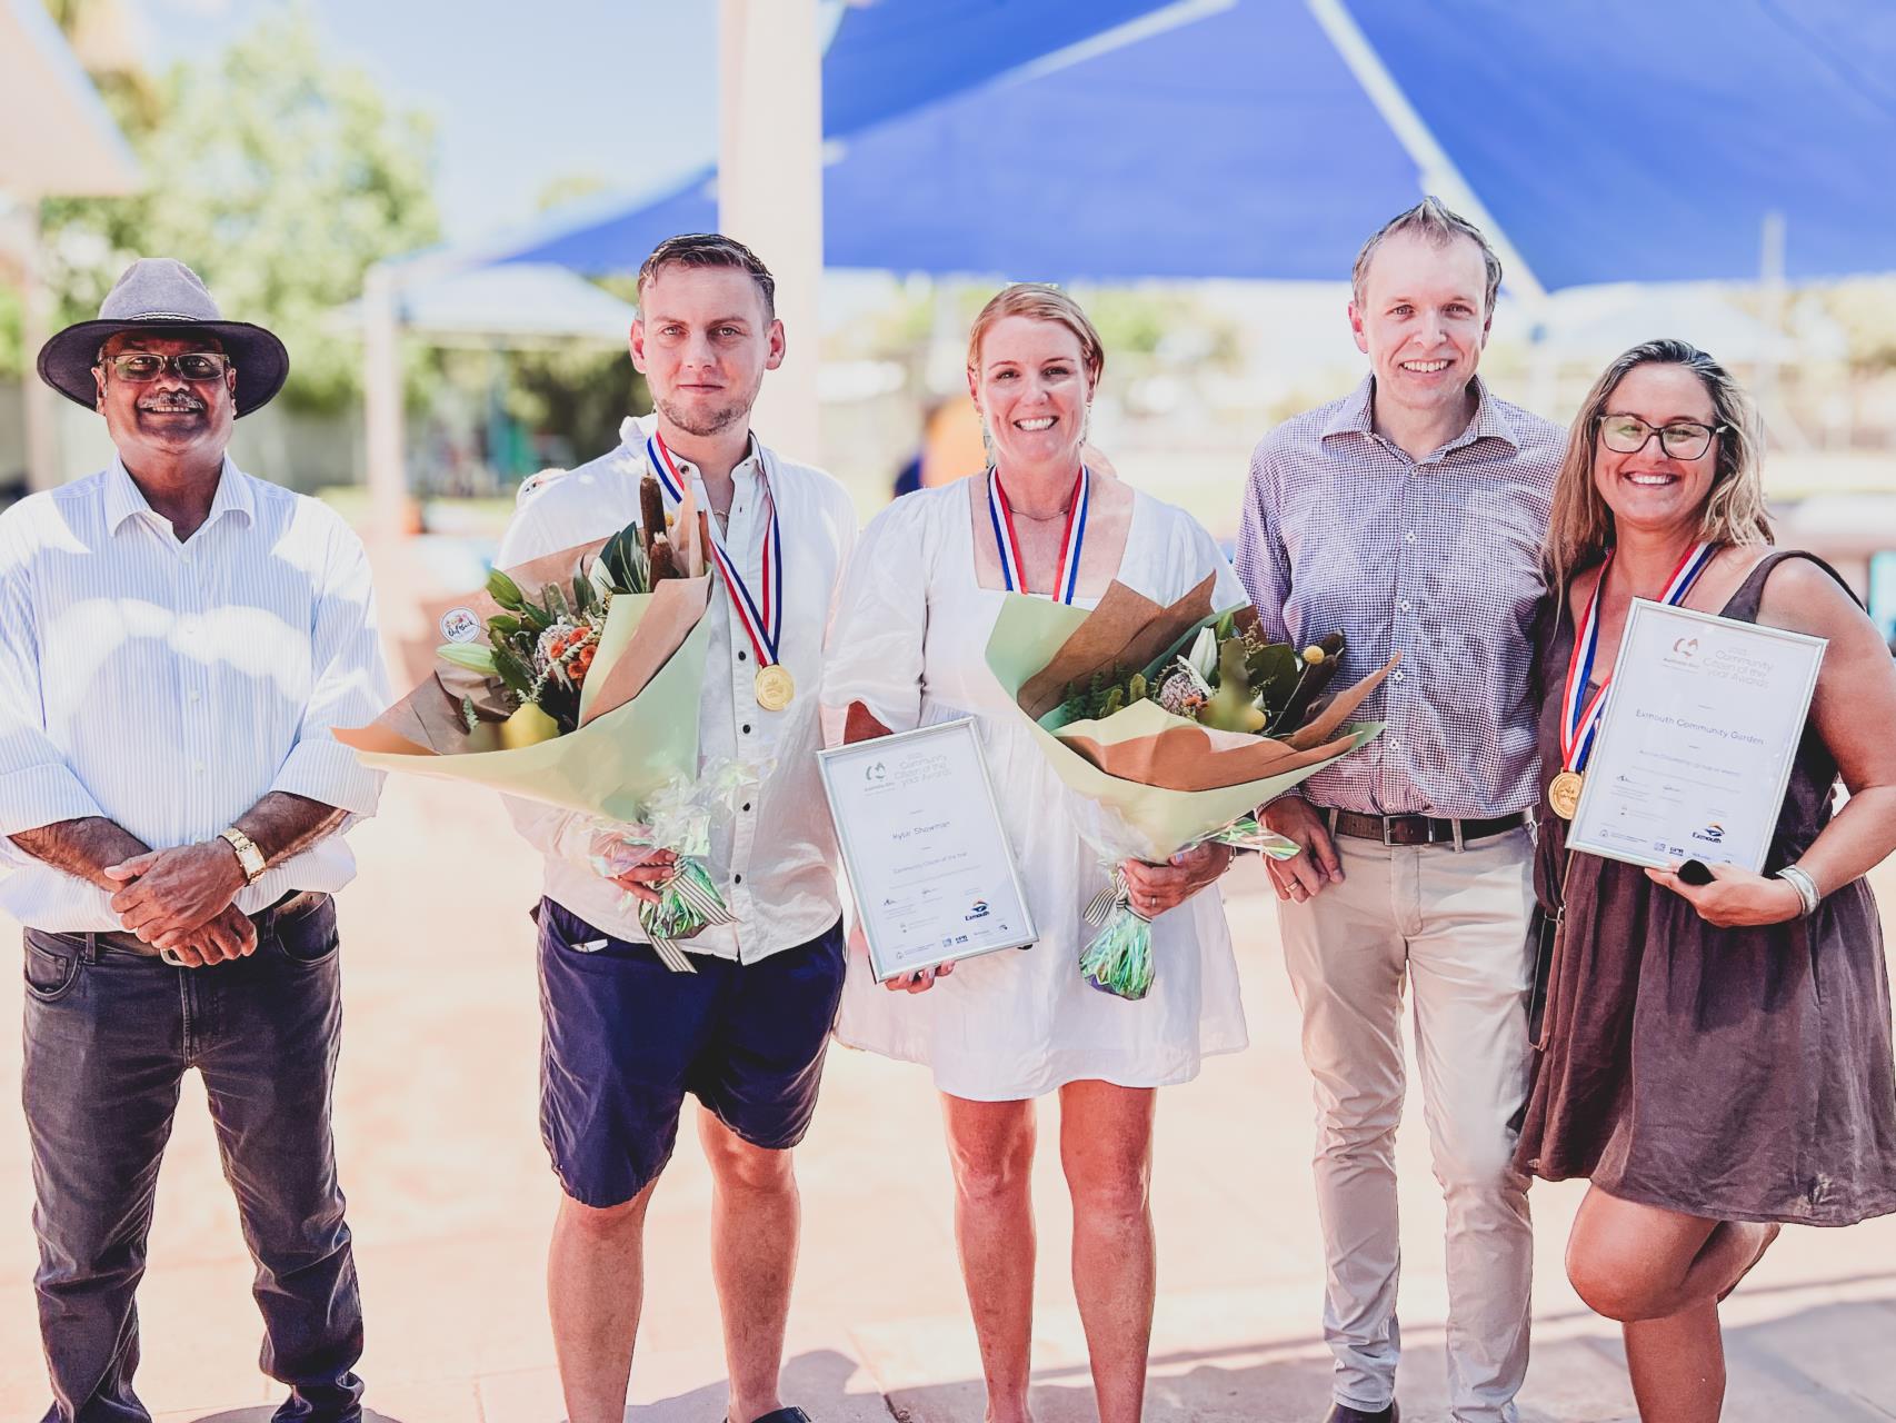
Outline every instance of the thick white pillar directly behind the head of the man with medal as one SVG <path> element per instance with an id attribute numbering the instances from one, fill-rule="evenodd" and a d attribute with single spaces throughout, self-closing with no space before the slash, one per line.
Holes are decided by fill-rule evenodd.
<path id="1" fill-rule="evenodd" d="M 753 425 L 793 459 L 821 459 L 823 55 L 817 0 L 720 0 L 719 228 L 777 279 L 789 353 Z"/>

